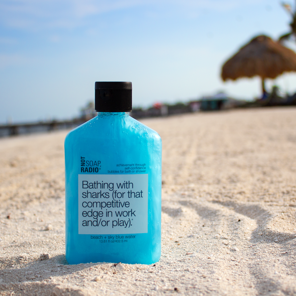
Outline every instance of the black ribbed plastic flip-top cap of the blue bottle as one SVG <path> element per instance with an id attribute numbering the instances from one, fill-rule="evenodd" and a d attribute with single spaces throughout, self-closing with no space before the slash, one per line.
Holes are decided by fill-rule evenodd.
<path id="1" fill-rule="evenodd" d="M 95 109 L 97 112 L 132 111 L 132 82 L 96 82 Z"/>

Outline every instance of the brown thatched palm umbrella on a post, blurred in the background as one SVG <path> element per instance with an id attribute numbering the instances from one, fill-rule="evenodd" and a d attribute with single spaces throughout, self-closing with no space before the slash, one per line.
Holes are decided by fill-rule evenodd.
<path id="1" fill-rule="evenodd" d="M 296 54 L 291 49 L 260 35 L 241 47 L 222 67 L 221 77 L 236 80 L 241 77 L 260 76 L 262 92 L 265 79 L 274 79 L 283 72 L 296 71 Z"/>

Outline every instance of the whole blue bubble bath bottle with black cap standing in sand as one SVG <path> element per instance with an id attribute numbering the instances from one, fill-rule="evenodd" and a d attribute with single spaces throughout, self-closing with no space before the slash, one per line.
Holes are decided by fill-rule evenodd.
<path id="1" fill-rule="evenodd" d="M 161 138 L 129 116 L 131 82 L 96 82 L 97 116 L 65 138 L 69 264 L 161 255 Z"/>

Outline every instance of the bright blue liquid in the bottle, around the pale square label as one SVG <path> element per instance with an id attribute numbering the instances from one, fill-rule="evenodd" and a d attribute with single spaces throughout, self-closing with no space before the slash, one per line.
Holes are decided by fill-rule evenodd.
<path id="1" fill-rule="evenodd" d="M 92 172 L 81 172 L 87 167 L 85 164 L 81 169 L 81 157 L 93 163 L 97 161 L 96 165 L 88 162 L 88 170 Z M 98 164 L 99 161 L 100 164 Z M 144 163 L 145 170 L 126 170 L 125 167 L 116 166 Z M 89 169 L 90 167 L 92 169 Z M 147 233 L 121 234 L 122 232 L 119 231 L 118 234 L 110 235 L 79 234 L 78 216 L 81 216 L 79 212 L 81 196 L 78 190 L 78 175 L 127 175 L 126 172 L 129 172 L 128 175 L 148 174 Z M 161 138 L 158 133 L 130 117 L 127 112 L 99 112 L 98 116 L 73 129 L 65 138 L 65 190 L 66 259 L 69 264 L 88 262 L 151 264 L 159 260 L 161 255 Z M 127 194 L 129 193 L 125 194 L 125 199 L 120 199 L 122 203 L 131 200 L 127 198 Z M 134 195 L 133 198 L 135 198 Z M 111 202 L 112 198 L 85 200 Z M 104 215 L 107 215 L 106 209 L 102 209 Z M 87 208 L 87 210 L 91 209 Z M 88 217 L 85 219 L 87 220 Z M 112 219 L 115 220 L 114 217 L 109 220 Z M 115 225 L 115 222 L 112 223 Z M 95 227 L 92 226 L 92 229 Z M 102 239 L 91 238 L 94 236 Z M 116 236 L 120 239 L 115 239 Z M 121 239 L 122 236 L 123 239 Z M 135 238 L 127 239 L 128 236 L 135 236 Z"/>

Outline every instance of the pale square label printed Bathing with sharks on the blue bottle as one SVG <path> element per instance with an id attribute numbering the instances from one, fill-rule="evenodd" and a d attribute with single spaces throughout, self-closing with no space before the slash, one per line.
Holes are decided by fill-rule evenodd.
<path id="1" fill-rule="evenodd" d="M 78 175 L 78 233 L 148 232 L 148 174 Z"/>

